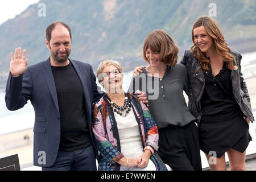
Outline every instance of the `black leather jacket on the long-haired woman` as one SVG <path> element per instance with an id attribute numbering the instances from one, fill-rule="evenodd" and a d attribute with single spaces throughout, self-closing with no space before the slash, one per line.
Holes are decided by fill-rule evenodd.
<path id="1" fill-rule="evenodd" d="M 237 104 L 240 106 L 243 115 L 246 118 L 249 118 L 251 122 L 253 122 L 254 117 L 253 113 L 251 112 L 250 97 L 241 72 L 240 63 L 242 56 L 237 51 L 232 51 L 232 55 L 234 56 L 233 65 L 236 65 L 238 68 L 233 69 L 230 75 L 230 78 L 232 80 L 233 96 Z M 180 63 L 184 64 L 187 67 L 187 73 L 189 78 L 188 107 L 191 110 L 191 113 L 196 117 L 196 122 L 200 123 L 202 115 L 200 99 L 203 96 L 205 87 L 203 70 L 199 68 L 199 60 L 196 59 L 191 50 L 186 50 L 184 52 L 183 58 Z M 197 68 L 199 69 L 197 70 Z"/>

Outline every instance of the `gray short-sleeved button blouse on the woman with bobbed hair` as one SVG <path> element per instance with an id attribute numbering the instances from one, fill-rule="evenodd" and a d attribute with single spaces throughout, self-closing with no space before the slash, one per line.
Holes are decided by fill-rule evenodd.
<path id="1" fill-rule="evenodd" d="M 169 125 L 185 126 L 196 118 L 190 113 L 183 90 L 188 93 L 187 69 L 182 64 L 167 65 L 163 78 L 154 77 L 143 68 L 143 73 L 131 80 L 129 92 L 147 93 L 148 109 L 158 129 Z"/>

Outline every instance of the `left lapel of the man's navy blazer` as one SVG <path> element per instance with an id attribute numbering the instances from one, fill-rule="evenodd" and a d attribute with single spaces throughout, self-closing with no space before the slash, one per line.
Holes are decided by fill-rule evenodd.
<path id="1" fill-rule="evenodd" d="M 47 82 L 48 88 L 50 90 L 53 102 L 56 106 L 56 109 L 60 113 L 59 104 L 58 104 L 58 100 L 57 100 L 56 86 L 55 86 L 55 82 L 54 82 L 54 78 L 53 78 L 53 74 L 52 74 L 52 68 L 51 68 L 51 64 L 50 64 L 50 58 L 48 58 L 46 61 L 46 64 L 44 64 L 43 74 L 44 74 L 44 77 L 46 78 L 46 82 Z"/>

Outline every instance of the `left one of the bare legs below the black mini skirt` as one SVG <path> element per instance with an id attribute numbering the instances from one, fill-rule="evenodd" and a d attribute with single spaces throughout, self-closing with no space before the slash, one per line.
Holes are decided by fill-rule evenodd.
<path id="1" fill-rule="evenodd" d="M 226 171 L 225 154 L 223 154 L 220 158 L 216 158 L 208 154 L 205 154 L 205 156 L 207 157 L 210 171 Z"/>

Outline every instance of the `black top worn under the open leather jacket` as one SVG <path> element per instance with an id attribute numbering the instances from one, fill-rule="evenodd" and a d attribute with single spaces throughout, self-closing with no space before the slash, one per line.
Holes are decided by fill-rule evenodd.
<path id="1" fill-rule="evenodd" d="M 232 93 L 231 70 L 224 61 L 221 71 L 215 77 L 212 68 L 204 72 L 205 89 L 201 98 L 202 119 L 215 120 L 233 118 L 240 114 L 240 109 Z"/>

